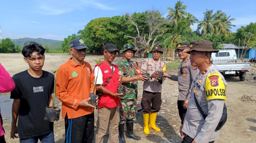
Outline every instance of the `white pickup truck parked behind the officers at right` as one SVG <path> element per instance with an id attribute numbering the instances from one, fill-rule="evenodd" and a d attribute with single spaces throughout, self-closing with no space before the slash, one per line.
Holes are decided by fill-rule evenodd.
<path id="1" fill-rule="evenodd" d="M 244 81 L 246 72 L 250 71 L 250 62 L 237 62 L 237 54 L 234 49 L 219 50 L 218 53 L 212 53 L 212 61 L 214 67 L 223 76 L 239 76 L 240 81 Z"/>

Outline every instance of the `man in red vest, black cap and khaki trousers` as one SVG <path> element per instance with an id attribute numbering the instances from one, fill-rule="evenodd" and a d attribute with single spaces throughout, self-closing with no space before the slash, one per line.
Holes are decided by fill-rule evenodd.
<path id="1" fill-rule="evenodd" d="M 120 98 L 123 93 L 117 93 L 119 86 L 119 69 L 112 64 L 116 57 L 116 46 L 112 43 L 104 47 L 105 59 L 102 64 L 94 68 L 94 75 L 97 78 L 96 90 L 102 93 L 98 101 L 98 120 L 96 129 L 96 143 L 103 143 L 103 136 L 106 134 L 109 124 L 109 140 L 111 143 L 118 143 L 118 123 Z"/>

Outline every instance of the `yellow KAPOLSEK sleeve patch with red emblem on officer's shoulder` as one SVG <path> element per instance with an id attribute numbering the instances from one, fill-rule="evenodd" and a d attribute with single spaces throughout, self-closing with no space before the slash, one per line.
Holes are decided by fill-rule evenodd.
<path id="1" fill-rule="evenodd" d="M 226 86 L 218 72 L 209 73 L 205 82 L 206 100 L 226 100 Z"/>

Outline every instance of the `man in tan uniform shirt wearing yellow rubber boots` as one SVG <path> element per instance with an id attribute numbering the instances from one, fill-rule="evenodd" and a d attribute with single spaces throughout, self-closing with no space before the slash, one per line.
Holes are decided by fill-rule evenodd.
<path id="1" fill-rule="evenodd" d="M 165 62 L 159 60 L 160 55 L 163 53 L 160 46 L 154 46 L 151 50 L 152 58 L 143 60 L 141 72 L 150 74 L 150 81 L 143 83 L 143 93 L 141 99 L 141 106 L 144 121 L 144 133 L 150 133 L 149 128 L 159 132 L 160 128 L 156 127 L 157 112 L 161 106 L 161 90 L 162 82 L 165 78 L 159 78 L 157 71 L 166 72 Z M 148 124 L 148 121 L 150 122 Z"/>

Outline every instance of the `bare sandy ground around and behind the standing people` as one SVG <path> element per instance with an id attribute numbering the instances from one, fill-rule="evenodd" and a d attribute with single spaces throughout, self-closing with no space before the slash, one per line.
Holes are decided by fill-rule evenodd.
<path id="1" fill-rule="evenodd" d="M 22 54 L 0 54 L 1 64 L 14 75 L 28 69 L 28 65 L 24 62 Z M 71 55 L 68 54 L 45 54 L 45 62 L 43 70 L 51 72 L 57 69 L 60 65 L 68 60 Z M 92 67 L 95 65 L 95 60 L 103 59 L 104 56 L 86 56 L 85 61 L 88 61 Z M 120 59 L 117 57 L 114 63 Z M 142 59 L 136 58 L 137 61 L 142 62 Z M 216 143 L 241 143 L 241 142 L 255 142 L 256 140 L 256 103 L 255 103 L 255 87 L 256 81 L 253 77 L 255 74 L 255 65 L 251 66 L 251 72 L 247 73 L 246 80 L 240 82 L 238 77 L 227 78 L 227 101 L 228 121 L 221 129 L 220 138 Z M 177 69 L 168 70 L 169 73 L 175 74 Z M 142 97 L 142 84 L 139 82 L 138 103 Z M 177 110 L 177 82 L 167 79 L 162 86 L 162 106 L 158 112 L 156 124 L 161 128 L 160 132 L 150 130 L 150 135 L 143 133 L 143 118 L 142 112 L 138 112 L 136 121 L 134 122 L 134 132 L 141 136 L 140 141 L 126 139 L 127 143 L 167 143 L 167 142 L 181 142 L 182 137 L 179 135 L 180 117 Z M 0 94 L 10 95 L 10 93 Z M 3 102 L 3 101 L 1 101 Z M 5 106 L 5 103 L 1 105 Z M 7 103 L 6 103 L 7 106 Z M 59 102 L 57 106 L 61 107 Z M 10 107 L 11 108 L 11 107 Z M 2 115 L 5 116 L 4 114 Z M 6 117 L 10 118 L 10 117 Z M 95 124 L 97 120 L 97 110 L 95 110 Z M 16 143 L 18 139 L 10 139 L 11 123 L 4 122 L 5 138 L 8 143 Z M 64 120 L 60 119 L 54 123 L 55 142 L 63 143 L 65 139 Z M 104 143 L 109 142 L 107 134 L 104 138 Z"/>

